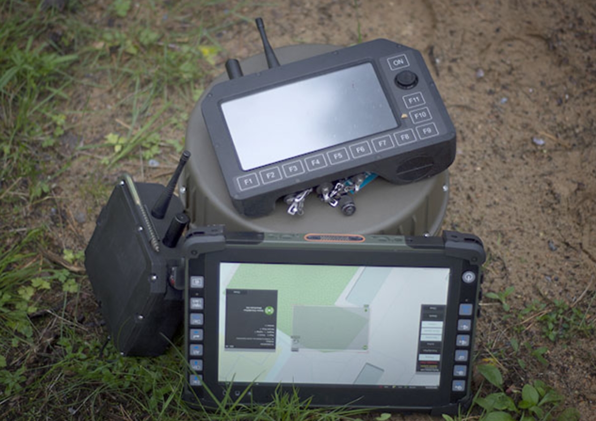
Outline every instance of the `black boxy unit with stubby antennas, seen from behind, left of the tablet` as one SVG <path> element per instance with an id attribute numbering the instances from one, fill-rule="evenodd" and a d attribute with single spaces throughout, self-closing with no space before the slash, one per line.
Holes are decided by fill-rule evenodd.
<path id="1" fill-rule="evenodd" d="M 189 219 L 167 186 L 118 180 L 85 249 L 85 268 L 114 345 L 122 355 L 160 355 L 182 322 L 181 236 Z"/>

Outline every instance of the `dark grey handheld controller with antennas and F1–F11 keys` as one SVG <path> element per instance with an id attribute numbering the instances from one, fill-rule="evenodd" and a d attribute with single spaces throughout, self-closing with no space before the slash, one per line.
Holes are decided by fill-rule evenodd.
<path id="1" fill-rule="evenodd" d="M 270 68 L 258 73 L 228 61 L 230 79 L 202 104 L 241 214 L 363 173 L 414 182 L 454 160 L 454 126 L 417 50 L 377 39 L 281 65 L 268 42 L 265 52 Z"/>

